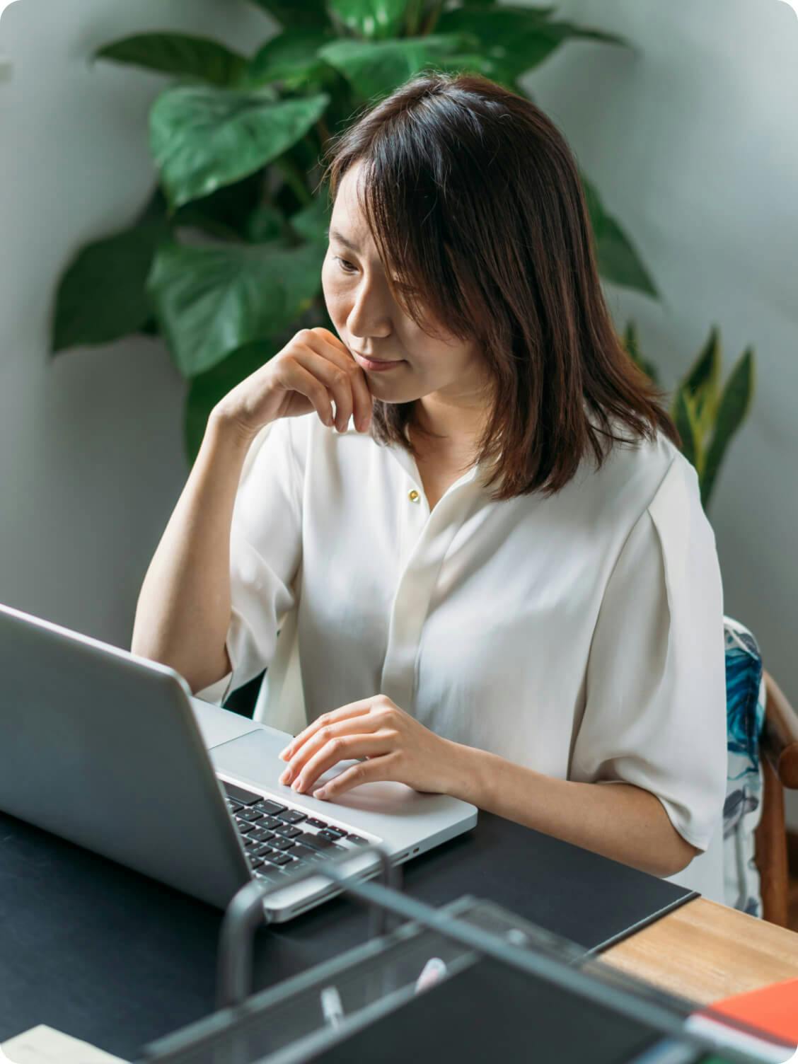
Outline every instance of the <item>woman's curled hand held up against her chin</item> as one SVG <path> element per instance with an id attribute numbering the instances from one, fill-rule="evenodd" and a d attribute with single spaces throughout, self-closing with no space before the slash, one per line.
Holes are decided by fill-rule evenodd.
<path id="1" fill-rule="evenodd" d="M 335 400 L 333 422 L 332 400 Z M 213 414 L 252 437 L 270 421 L 315 410 L 343 432 L 354 414 L 359 432 L 371 423 L 371 392 L 349 348 L 329 329 L 300 329 L 282 350 L 217 402 Z"/>

